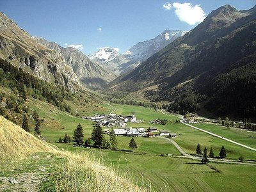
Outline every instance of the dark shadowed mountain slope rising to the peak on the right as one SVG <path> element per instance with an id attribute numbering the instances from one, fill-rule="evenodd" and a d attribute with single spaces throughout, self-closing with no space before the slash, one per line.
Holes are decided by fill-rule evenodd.
<path id="1" fill-rule="evenodd" d="M 220 86 L 220 78 L 223 79 L 223 76 L 239 70 L 243 70 L 243 74 L 248 72 L 248 68 L 252 69 L 249 78 L 255 79 L 256 76 L 253 69 L 256 51 L 255 9 L 254 7 L 239 12 L 236 8 L 226 5 L 212 11 L 195 29 L 148 58 L 126 76 L 116 79 L 109 87 L 111 90 L 126 92 L 145 89 L 145 96 L 155 101 L 175 101 L 180 95 L 188 92 L 200 93 L 207 96 L 208 100 L 212 98 L 210 102 L 217 97 L 227 98 L 227 93 L 221 90 L 228 90 L 228 87 L 232 86 L 230 82 L 222 83 L 221 90 L 214 92 L 217 84 Z M 129 86 L 131 84 L 132 86 Z M 150 86 L 154 86 L 154 89 Z M 248 90 L 248 87 L 243 90 Z M 241 102 L 234 105 L 234 99 L 228 100 L 229 107 L 225 108 L 225 111 L 212 108 L 218 106 L 216 102 L 207 104 L 207 107 L 218 114 L 220 111 L 225 114 L 234 113 L 235 106 L 239 108 L 239 115 L 242 115 L 241 111 L 243 114 L 245 111 L 250 111 L 247 114 L 254 114 L 256 103 L 252 102 L 249 96 L 243 98 L 244 102 L 250 102 L 252 107 L 248 104 L 242 105 Z M 194 102 L 196 104 L 198 100 L 195 99 Z M 225 102 L 227 104 L 227 100 L 221 102 L 220 108 L 225 106 Z"/>

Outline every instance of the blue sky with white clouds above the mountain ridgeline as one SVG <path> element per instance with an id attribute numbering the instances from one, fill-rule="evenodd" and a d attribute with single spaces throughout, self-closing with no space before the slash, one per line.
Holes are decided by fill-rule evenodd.
<path id="1" fill-rule="evenodd" d="M 248 10 L 255 0 L 1 0 L 0 11 L 32 36 L 90 54 L 99 47 L 122 53 L 165 29 L 193 29 L 224 4 Z"/>

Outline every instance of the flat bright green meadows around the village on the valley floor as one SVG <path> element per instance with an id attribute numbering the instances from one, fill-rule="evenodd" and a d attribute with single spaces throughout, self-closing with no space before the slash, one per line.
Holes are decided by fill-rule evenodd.
<path id="1" fill-rule="evenodd" d="M 105 113 L 113 111 L 108 105 L 104 107 Z M 177 133 L 178 137 L 173 140 L 189 154 L 195 155 L 196 145 L 200 143 L 202 149 L 207 147 L 209 150 L 212 147 L 215 156 L 218 156 L 221 146 L 225 146 L 227 159 L 238 159 L 239 156 L 243 156 L 246 160 L 256 160 L 256 153 L 252 150 L 228 143 L 186 125 L 173 123 L 152 125 L 148 123 L 149 120 L 156 118 L 175 120 L 177 119 L 176 116 L 166 116 L 154 109 L 138 106 L 113 104 L 113 107 L 117 108 L 115 113 L 118 115 L 130 115 L 132 111 L 135 111 L 137 119 L 144 120 L 141 124 L 130 123 L 127 126 L 145 128 L 156 126 L 159 130 L 166 129 Z M 31 108 L 36 109 L 39 115 L 45 118 L 42 134 L 47 141 L 64 150 L 88 152 L 105 164 L 112 166 L 118 172 L 127 175 L 134 182 L 141 183 L 141 185 L 150 183 L 152 191 L 253 191 L 256 187 L 256 165 L 210 163 L 214 167 L 212 168 L 200 164 L 200 161 L 179 157 L 180 153 L 173 147 L 172 143 L 161 138 L 135 138 L 138 148 L 134 150 L 133 154 L 123 151 L 130 150 L 128 146 L 131 138 L 129 137 L 116 137 L 119 151 L 73 147 L 72 143 L 56 143 L 60 136 L 63 137 L 66 133 L 72 136 L 79 123 L 84 130 L 84 138 L 90 137 L 92 122 L 69 116 L 67 113 L 54 110 L 47 104 L 38 104 L 38 106 L 33 104 Z M 230 139 L 237 142 L 241 141 L 241 143 L 245 142 L 244 144 L 251 147 L 256 145 L 255 138 L 252 136 L 254 133 L 248 134 L 246 131 L 237 133 L 232 130 L 221 131 L 223 127 L 209 124 L 196 124 L 196 126 L 202 129 L 212 129 L 212 132 L 215 130 L 214 133 L 216 134 L 226 138 L 230 136 Z M 105 137 L 108 140 L 109 136 Z M 160 154 L 166 154 L 166 156 L 161 157 Z"/>

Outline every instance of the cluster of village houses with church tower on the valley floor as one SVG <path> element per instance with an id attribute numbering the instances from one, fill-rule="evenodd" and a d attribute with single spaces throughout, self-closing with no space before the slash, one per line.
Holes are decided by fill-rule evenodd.
<path id="1" fill-rule="evenodd" d="M 122 116 L 110 113 L 109 115 L 95 114 L 93 116 L 82 116 L 83 119 L 95 121 L 100 127 L 104 127 L 102 130 L 104 134 L 109 134 L 113 130 L 113 134 L 116 136 L 136 136 L 136 137 L 155 137 L 155 136 L 168 136 L 170 138 L 176 138 L 177 134 L 170 133 L 166 130 L 157 130 L 157 127 L 127 127 L 127 122 L 142 123 L 143 120 L 137 120 L 135 112 L 132 111 L 132 115 Z M 158 124 L 157 120 L 150 121 L 151 124 Z M 105 128 L 106 127 L 106 128 Z M 115 129 L 117 128 L 117 129 Z"/>

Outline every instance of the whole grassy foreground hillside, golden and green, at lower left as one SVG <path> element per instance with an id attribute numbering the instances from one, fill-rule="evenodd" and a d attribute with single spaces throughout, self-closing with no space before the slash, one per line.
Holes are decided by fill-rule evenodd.
<path id="1" fill-rule="evenodd" d="M 2 116 L 0 125 L 0 191 L 147 191 L 87 154 L 51 147 Z"/>

